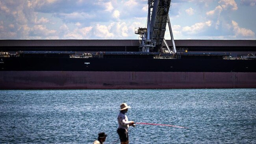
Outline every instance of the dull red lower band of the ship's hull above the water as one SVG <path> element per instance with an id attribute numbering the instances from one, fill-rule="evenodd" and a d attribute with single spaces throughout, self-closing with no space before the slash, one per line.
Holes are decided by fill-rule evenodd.
<path id="1" fill-rule="evenodd" d="M 255 72 L 1 71 L 0 89 L 256 88 Z"/>

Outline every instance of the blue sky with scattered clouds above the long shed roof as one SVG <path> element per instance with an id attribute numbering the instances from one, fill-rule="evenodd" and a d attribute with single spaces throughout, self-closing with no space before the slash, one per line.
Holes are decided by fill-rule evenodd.
<path id="1" fill-rule="evenodd" d="M 147 7 L 147 0 L 0 0 L 0 39 L 139 39 Z M 174 39 L 256 40 L 256 0 L 172 0 L 169 16 Z"/>

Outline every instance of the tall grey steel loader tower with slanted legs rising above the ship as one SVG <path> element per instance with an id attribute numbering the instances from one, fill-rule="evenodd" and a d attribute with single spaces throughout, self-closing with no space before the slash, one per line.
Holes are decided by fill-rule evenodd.
<path id="1" fill-rule="evenodd" d="M 138 28 L 135 30 L 135 33 L 139 34 L 142 39 L 140 40 L 139 46 L 142 48 L 142 52 L 158 52 L 161 51 L 163 46 L 166 46 L 169 53 L 176 53 L 173 31 L 168 14 L 170 5 L 171 0 L 148 0 L 147 28 Z M 167 24 L 170 30 L 173 51 L 171 51 L 164 39 Z"/>

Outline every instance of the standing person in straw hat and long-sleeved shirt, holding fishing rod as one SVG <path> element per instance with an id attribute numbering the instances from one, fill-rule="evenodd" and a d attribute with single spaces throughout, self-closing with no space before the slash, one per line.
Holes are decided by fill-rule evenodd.
<path id="1" fill-rule="evenodd" d="M 120 105 L 120 113 L 117 116 L 117 121 L 118 121 L 118 129 L 117 133 L 119 135 L 121 144 L 128 144 L 129 143 L 129 137 L 128 137 L 128 128 L 129 126 L 135 126 L 134 121 L 128 121 L 128 117 L 126 116 L 125 113 L 127 113 L 128 108 L 131 108 L 128 106 L 126 103 L 122 103 Z"/>

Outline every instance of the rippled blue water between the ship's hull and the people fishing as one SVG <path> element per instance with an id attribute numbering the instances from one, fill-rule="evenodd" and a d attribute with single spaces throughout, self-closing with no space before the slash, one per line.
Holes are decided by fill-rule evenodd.
<path id="1" fill-rule="evenodd" d="M 0 90 L 0 143 L 119 144 L 128 103 L 130 144 L 256 143 L 256 89 Z"/>

